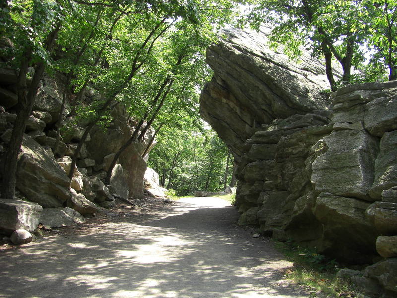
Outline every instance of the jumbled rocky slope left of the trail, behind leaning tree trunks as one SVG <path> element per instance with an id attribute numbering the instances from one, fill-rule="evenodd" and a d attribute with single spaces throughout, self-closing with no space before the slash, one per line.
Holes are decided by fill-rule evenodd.
<path id="1" fill-rule="evenodd" d="M 41 81 L 18 156 L 16 199 L 21 200 L 8 202 L 0 199 L 0 214 L 6 219 L 0 221 L 0 233 L 9 234 L 15 227 L 23 226 L 32 231 L 39 222 L 54 223 L 56 218 L 60 219 L 56 221 L 59 225 L 67 225 L 66 222 L 79 223 L 79 214 L 93 214 L 100 209 L 98 205 L 111 207 L 114 195 L 124 198 L 143 197 L 147 159 L 142 158 L 142 153 L 151 138 L 150 130 L 143 143 L 133 143 L 120 156 L 112 171 L 110 185 L 103 183 L 115 153 L 134 130 L 134 122 L 128 119 L 122 104 L 114 106 L 111 123 L 107 127 L 96 126 L 91 130 L 78 156 L 74 177 L 72 181 L 69 180 L 67 174 L 71 156 L 87 124 L 72 116 L 75 115 L 71 113 L 72 103 L 66 100 L 63 117 L 69 128 L 61 130 L 55 152 L 55 124 L 60 118 L 64 81 L 66 79 L 62 74 L 45 75 Z M 15 72 L 0 68 L 0 162 L 5 156 L 16 119 L 15 92 Z M 92 102 L 97 96 L 99 95 L 88 88 L 82 104 Z M 71 94 L 66 94 L 66 97 L 73 98 Z M 43 207 L 44 210 L 33 212 L 31 205 L 26 202 L 38 203 L 36 209 Z M 66 219 L 66 222 L 62 223 L 62 219 Z M 33 225 L 36 226 L 33 228 Z"/>

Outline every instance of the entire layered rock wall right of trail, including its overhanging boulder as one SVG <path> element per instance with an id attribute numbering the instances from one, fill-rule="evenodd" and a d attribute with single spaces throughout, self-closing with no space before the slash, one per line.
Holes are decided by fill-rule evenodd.
<path id="1" fill-rule="evenodd" d="M 238 165 L 238 224 L 350 263 L 397 257 L 397 81 L 327 98 L 307 53 L 294 63 L 265 32 L 224 33 L 207 51 L 214 77 L 200 104 Z"/>

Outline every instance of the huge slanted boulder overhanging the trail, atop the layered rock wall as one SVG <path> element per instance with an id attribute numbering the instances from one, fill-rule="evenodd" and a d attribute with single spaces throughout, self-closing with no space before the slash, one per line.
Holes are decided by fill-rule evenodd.
<path id="1" fill-rule="evenodd" d="M 306 51 L 297 63 L 282 48 L 271 50 L 268 32 L 225 29 L 207 50 L 214 76 L 201 92 L 200 113 L 235 157 L 262 124 L 331 105 L 322 94 L 330 88 L 322 63 Z"/>

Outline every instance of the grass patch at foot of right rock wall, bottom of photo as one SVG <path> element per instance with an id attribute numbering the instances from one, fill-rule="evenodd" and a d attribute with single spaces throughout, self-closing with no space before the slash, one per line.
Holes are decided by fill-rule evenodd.
<path id="1" fill-rule="evenodd" d="M 304 286 L 310 297 L 345 297 L 362 298 L 354 287 L 336 278 L 336 273 L 344 268 L 335 260 L 327 259 L 314 250 L 304 248 L 292 242 L 275 242 L 278 251 L 293 262 L 294 268 L 285 273 L 285 277 L 298 285 Z"/>

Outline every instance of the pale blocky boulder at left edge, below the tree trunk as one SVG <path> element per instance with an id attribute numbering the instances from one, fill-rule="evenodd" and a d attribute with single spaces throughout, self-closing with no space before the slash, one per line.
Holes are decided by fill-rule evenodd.
<path id="1" fill-rule="evenodd" d="M 37 203 L 0 199 L 0 233 L 10 234 L 17 229 L 34 231 L 42 210 Z"/>

